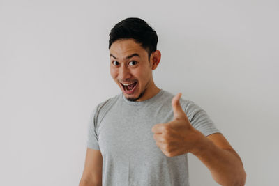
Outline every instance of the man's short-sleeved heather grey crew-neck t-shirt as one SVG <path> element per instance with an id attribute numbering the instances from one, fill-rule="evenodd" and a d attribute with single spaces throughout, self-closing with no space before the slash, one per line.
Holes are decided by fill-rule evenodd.
<path id="1" fill-rule="evenodd" d="M 120 93 L 93 109 L 87 147 L 103 155 L 103 186 L 189 185 L 187 154 L 167 157 L 151 131 L 173 120 L 173 97 L 161 89 L 149 100 L 130 102 Z M 179 101 L 193 127 L 206 136 L 219 132 L 201 107 Z"/>

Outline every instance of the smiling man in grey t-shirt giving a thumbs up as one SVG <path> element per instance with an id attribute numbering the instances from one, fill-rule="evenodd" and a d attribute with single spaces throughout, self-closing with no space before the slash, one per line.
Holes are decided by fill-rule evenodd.
<path id="1" fill-rule="evenodd" d="M 112 28 L 110 75 L 121 93 L 91 114 L 80 186 L 189 185 L 187 153 L 220 185 L 244 185 L 239 155 L 206 111 L 153 82 L 157 42 L 156 31 L 139 18 Z"/>

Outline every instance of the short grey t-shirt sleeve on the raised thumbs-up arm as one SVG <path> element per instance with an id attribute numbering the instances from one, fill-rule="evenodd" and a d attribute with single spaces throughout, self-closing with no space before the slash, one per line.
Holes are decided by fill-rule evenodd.
<path id="1" fill-rule="evenodd" d="M 185 112 L 191 125 L 193 125 L 195 129 L 202 132 L 204 136 L 220 133 L 211 118 L 209 118 L 209 115 L 206 113 L 206 111 L 204 111 L 204 109 L 199 107 L 193 101 L 188 102 Z"/>

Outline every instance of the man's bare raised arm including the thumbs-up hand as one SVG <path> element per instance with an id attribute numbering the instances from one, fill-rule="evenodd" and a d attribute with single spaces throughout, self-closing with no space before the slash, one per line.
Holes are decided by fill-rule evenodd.
<path id="1" fill-rule="evenodd" d="M 174 120 L 152 127 L 156 145 L 167 157 L 193 153 L 211 171 L 213 179 L 220 185 L 244 185 L 246 172 L 239 155 L 223 134 L 214 133 L 206 137 L 195 129 L 181 108 L 180 97 L 181 93 L 172 99 Z"/>

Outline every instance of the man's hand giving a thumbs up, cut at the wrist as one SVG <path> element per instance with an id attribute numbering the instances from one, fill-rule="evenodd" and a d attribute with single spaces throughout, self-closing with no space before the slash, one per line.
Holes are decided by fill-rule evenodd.
<path id="1" fill-rule="evenodd" d="M 188 117 L 181 108 L 179 99 L 181 93 L 172 98 L 174 120 L 160 123 L 152 127 L 156 145 L 167 157 L 191 153 L 204 135 L 196 130 L 188 121 Z"/>

